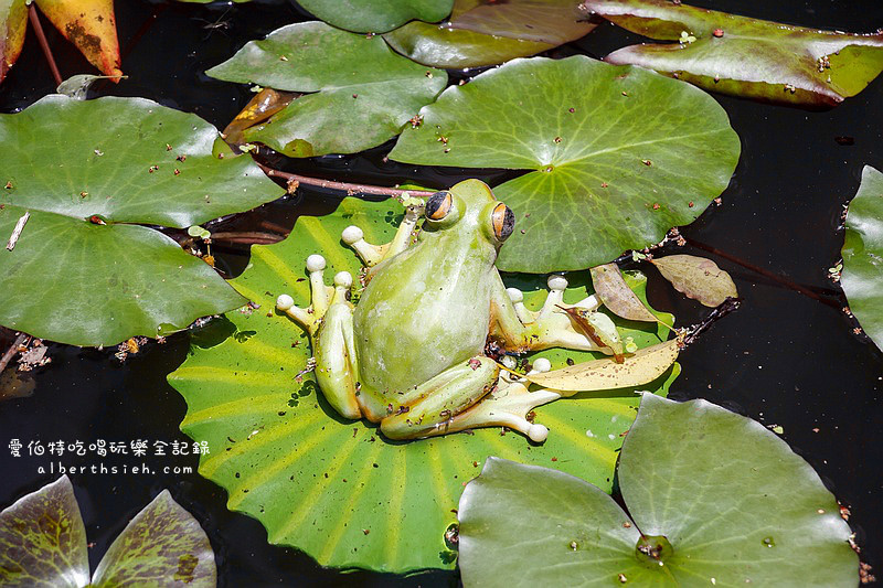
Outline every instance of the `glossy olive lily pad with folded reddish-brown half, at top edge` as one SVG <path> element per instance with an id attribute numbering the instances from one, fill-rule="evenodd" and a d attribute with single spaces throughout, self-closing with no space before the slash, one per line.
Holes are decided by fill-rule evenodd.
<path id="1" fill-rule="evenodd" d="M 390 31 L 398 53 L 436 67 L 493 65 L 574 41 L 595 28 L 573 0 L 457 0 L 444 24 L 414 21 Z"/>

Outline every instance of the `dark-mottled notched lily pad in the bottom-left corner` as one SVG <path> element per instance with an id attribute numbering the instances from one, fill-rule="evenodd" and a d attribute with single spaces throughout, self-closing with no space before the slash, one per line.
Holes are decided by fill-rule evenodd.
<path id="1" fill-rule="evenodd" d="M 200 524 L 163 490 L 126 525 L 89 582 L 86 530 L 66 475 L 0 512 L 7 588 L 214 588 L 214 553 Z"/>

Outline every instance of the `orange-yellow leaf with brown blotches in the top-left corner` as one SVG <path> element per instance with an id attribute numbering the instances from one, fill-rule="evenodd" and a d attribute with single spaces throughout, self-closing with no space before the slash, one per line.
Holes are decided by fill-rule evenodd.
<path id="1" fill-rule="evenodd" d="M 119 43 L 113 0 L 34 0 L 95 67 L 119 82 Z"/>

